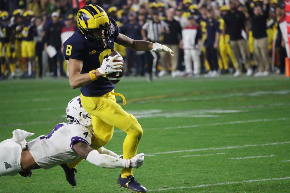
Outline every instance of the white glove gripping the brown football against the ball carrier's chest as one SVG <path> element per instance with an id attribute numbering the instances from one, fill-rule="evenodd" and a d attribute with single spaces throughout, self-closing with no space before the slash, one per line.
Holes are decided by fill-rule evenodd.
<path id="1" fill-rule="evenodd" d="M 122 70 L 117 68 L 121 68 L 123 63 L 122 62 L 113 62 L 116 58 L 118 58 L 118 55 L 109 56 L 108 58 L 105 58 L 103 60 L 103 63 L 100 68 L 97 70 L 102 74 L 102 76 L 106 77 L 106 74 L 111 74 L 112 72 L 121 72 Z M 107 59 L 109 59 L 107 61 Z"/>

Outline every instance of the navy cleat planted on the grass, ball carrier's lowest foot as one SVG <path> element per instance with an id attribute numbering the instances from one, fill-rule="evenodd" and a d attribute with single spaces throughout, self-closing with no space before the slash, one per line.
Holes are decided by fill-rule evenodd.
<path id="1" fill-rule="evenodd" d="M 127 188 L 131 192 L 147 192 L 147 189 L 139 184 L 132 175 L 127 176 L 127 178 L 121 178 L 120 175 L 117 184 L 120 188 Z"/>

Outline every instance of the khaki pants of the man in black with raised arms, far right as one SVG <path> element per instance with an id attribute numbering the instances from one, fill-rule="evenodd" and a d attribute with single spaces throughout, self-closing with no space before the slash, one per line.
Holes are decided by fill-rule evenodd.
<path id="1" fill-rule="evenodd" d="M 258 71 L 270 72 L 270 63 L 268 57 L 268 37 L 254 39 L 254 55 L 258 60 Z"/>

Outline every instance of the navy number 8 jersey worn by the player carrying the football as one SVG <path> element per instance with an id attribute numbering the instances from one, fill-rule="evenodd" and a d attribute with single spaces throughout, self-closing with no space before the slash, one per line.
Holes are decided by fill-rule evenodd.
<path id="1" fill-rule="evenodd" d="M 99 68 L 103 60 L 114 51 L 114 40 L 119 35 L 120 28 L 112 18 L 109 17 L 109 20 L 112 22 L 111 30 L 114 33 L 105 39 L 106 48 L 102 43 L 90 42 L 79 30 L 63 43 L 63 55 L 66 60 L 71 58 L 83 61 L 81 74 Z M 81 93 L 84 96 L 101 96 L 113 90 L 114 87 L 115 85 L 108 78 L 100 76 L 97 80 L 81 87 Z"/>

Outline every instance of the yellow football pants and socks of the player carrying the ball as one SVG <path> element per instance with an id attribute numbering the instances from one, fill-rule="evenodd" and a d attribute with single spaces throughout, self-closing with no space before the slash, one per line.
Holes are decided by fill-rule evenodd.
<path id="1" fill-rule="evenodd" d="M 98 149 L 107 144 L 113 136 L 114 127 L 117 127 L 127 133 L 123 143 L 123 159 L 130 159 L 137 154 L 143 130 L 137 119 L 116 103 L 114 90 L 94 97 L 81 94 L 81 102 L 92 116 L 95 139 L 91 147 Z M 68 166 L 75 167 L 79 161 L 68 163 Z M 125 178 L 129 175 L 133 175 L 132 168 L 123 168 L 121 177 Z"/>

